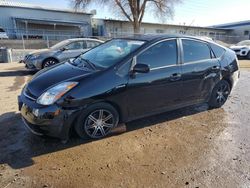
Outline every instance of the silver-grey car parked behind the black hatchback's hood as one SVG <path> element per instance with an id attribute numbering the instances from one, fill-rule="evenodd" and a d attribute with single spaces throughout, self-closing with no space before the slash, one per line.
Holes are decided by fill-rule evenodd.
<path id="1" fill-rule="evenodd" d="M 27 69 L 40 70 L 57 63 L 79 56 L 103 41 L 91 38 L 68 39 L 48 49 L 41 49 L 27 54 L 20 63 Z"/>

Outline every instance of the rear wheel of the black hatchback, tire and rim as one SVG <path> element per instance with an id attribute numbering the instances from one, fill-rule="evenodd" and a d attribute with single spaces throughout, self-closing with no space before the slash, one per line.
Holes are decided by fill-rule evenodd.
<path id="1" fill-rule="evenodd" d="M 227 81 L 221 80 L 217 83 L 212 91 L 208 105 L 210 108 L 220 108 L 225 104 L 231 92 L 230 85 Z"/>

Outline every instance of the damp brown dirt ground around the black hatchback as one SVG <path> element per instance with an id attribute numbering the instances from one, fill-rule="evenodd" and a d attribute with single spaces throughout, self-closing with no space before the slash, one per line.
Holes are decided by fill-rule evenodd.
<path id="1" fill-rule="evenodd" d="M 25 129 L 17 95 L 32 73 L 22 67 L 0 64 L 0 187 L 250 187 L 250 69 L 223 108 L 188 107 L 62 144 Z"/>

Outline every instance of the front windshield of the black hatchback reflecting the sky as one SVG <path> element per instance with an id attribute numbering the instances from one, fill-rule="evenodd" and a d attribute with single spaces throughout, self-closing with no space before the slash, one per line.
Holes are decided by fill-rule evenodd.
<path id="1" fill-rule="evenodd" d="M 95 67 L 108 68 L 118 63 L 142 44 L 144 44 L 144 41 L 113 39 L 82 54 L 74 61 L 74 64 L 80 66 L 80 63 L 84 63 L 82 60 L 85 60 Z"/>

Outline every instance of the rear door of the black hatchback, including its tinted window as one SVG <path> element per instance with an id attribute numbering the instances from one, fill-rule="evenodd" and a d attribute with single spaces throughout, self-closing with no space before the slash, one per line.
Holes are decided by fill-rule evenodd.
<path id="1" fill-rule="evenodd" d="M 180 39 L 182 44 L 182 79 L 184 103 L 206 100 L 215 83 L 220 80 L 221 68 L 210 49 L 203 41 Z"/>

